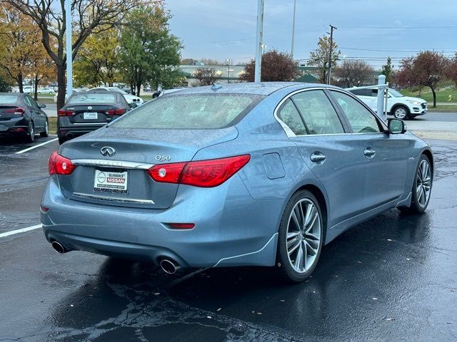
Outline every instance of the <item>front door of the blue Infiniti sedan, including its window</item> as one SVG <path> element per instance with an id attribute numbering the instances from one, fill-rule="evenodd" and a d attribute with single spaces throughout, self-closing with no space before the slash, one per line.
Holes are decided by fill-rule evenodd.
<path id="1" fill-rule="evenodd" d="M 372 209 L 403 195 L 411 146 L 405 135 L 388 135 L 381 120 L 356 98 L 331 90 L 353 133 L 356 153 L 365 159 L 364 207 Z"/>

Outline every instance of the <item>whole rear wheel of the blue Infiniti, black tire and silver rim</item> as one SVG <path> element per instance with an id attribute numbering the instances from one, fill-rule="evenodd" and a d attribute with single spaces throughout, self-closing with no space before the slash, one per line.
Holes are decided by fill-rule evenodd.
<path id="1" fill-rule="evenodd" d="M 289 200 L 279 225 L 277 264 L 287 281 L 311 276 L 321 256 L 324 237 L 319 203 L 308 190 L 296 192 Z"/>

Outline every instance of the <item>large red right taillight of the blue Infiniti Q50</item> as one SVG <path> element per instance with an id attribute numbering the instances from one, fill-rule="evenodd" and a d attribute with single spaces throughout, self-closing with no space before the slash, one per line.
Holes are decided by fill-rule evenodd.
<path id="1" fill-rule="evenodd" d="M 216 187 L 241 170 L 250 159 L 251 155 L 237 155 L 195 162 L 159 164 L 151 167 L 148 173 L 156 182 Z"/>

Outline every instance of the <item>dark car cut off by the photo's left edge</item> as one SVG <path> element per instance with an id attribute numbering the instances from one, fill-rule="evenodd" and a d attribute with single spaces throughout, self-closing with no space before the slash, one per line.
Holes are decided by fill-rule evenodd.
<path id="1" fill-rule="evenodd" d="M 17 135 L 34 142 L 35 134 L 47 137 L 48 116 L 37 103 L 24 93 L 0 93 L 0 135 Z"/>

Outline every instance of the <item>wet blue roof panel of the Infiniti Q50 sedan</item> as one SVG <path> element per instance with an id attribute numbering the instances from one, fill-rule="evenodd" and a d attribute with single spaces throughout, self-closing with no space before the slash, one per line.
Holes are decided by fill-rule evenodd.
<path id="1" fill-rule="evenodd" d="M 215 86 L 202 86 L 194 88 L 184 88 L 177 90 L 174 94 L 199 94 L 199 93 L 232 93 L 232 94 L 251 94 L 251 95 L 270 95 L 276 90 L 292 86 L 302 86 L 301 88 L 327 87 L 326 84 L 302 83 L 302 82 L 245 82 L 245 83 L 224 83 Z M 164 94 L 168 95 L 168 94 Z"/>

